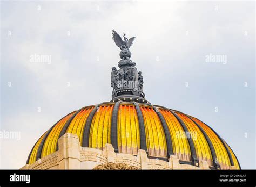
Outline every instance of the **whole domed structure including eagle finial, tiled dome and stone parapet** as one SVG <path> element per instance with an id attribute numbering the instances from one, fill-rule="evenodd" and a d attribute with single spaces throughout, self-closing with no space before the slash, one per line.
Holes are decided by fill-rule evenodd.
<path id="1" fill-rule="evenodd" d="M 113 30 L 112 38 L 121 49 L 119 69 L 111 71 L 112 100 L 60 119 L 33 146 L 27 168 L 32 164 L 30 168 L 47 169 L 57 162 L 60 169 L 120 168 L 120 162 L 126 162 L 130 165 L 125 168 L 140 169 L 241 169 L 230 146 L 210 126 L 145 99 L 142 72 L 130 59 L 135 37 L 128 40 L 124 34 L 123 41 Z M 69 141 L 75 143 L 65 144 Z M 44 163 L 39 164 L 41 158 Z"/>

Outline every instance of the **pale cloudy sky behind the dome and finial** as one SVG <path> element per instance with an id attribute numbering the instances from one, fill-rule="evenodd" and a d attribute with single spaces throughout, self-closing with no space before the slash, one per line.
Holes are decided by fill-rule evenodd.
<path id="1" fill-rule="evenodd" d="M 152 104 L 204 121 L 255 169 L 255 2 L 1 2 L 0 168 L 19 169 L 66 114 L 111 100 L 120 49 Z M 49 61 L 36 61 L 41 55 Z M 0 134 L 1 135 L 1 134 Z"/>

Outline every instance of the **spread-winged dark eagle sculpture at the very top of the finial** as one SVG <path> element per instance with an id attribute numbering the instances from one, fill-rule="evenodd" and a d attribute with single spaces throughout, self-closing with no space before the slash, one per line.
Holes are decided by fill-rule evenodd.
<path id="1" fill-rule="evenodd" d="M 135 40 L 136 37 L 132 37 L 128 40 L 128 38 L 125 37 L 124 33 L 124 40 L 120 37 L 119 34 L 117 34 L 116 31 L 112 31 L 112 38 L 114 42 L 116 43 L 117 47 L 120 47 L 121 50 L 123 49 L 129 49 L 131 45 L 133 44 L 133 41 Z"/>

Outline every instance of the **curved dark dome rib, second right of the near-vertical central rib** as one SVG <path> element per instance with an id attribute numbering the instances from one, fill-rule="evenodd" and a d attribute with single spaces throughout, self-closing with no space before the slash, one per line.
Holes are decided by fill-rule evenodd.
<path id="1" fill-rule="evenodd" d="M 158 107 L 151 105 L 151 104 L 149 104 L 149 105 L 153 107 L 154 111 L 157 113 L 158 117 L 160 118 L 161 124 L 163 125 L 166 144 L 167 144 L 167 157 L 169 158 L 171 155 L 174 155 L 173 147 L 172 147 L 171 133 L 169 131 L 169 128 L 166 124 L 166 121 L 165 121 L 163 115 L 158 111 L 158 109 L 157 109 Z"/>

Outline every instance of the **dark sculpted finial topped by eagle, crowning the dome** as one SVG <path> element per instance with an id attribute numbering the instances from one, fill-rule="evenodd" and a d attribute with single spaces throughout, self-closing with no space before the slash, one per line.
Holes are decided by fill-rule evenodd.
<path id="1" fill-rule="evenodd" d="M 135 37 L 130 39 L 126 38 L 124 33 L 124 40 L 117 34 L 116 31 L 112 31 L 112 38 L 116 45 L 121 49 L 120 58 L 118 62 L 117 70 L 116 67 L 112 67 L 111 72 L 111 87 L 112 100 L 128 99 L 136 102 L 146 102 L 145 95 L 143 93 L 143 76 L 141 71 L 137 71 L 136 63 L 132 62 L 131 47 Z"/>

